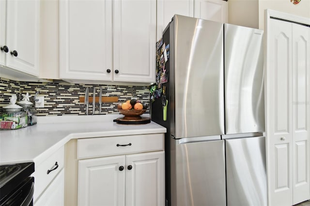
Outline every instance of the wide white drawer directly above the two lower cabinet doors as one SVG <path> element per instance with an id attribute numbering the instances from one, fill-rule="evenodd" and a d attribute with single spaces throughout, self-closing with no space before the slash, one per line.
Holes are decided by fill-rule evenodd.
<path id="1" fill-rule="evenodd" d="M 78 139 L 78 159 L 164 150 L 164 134 Z"/>

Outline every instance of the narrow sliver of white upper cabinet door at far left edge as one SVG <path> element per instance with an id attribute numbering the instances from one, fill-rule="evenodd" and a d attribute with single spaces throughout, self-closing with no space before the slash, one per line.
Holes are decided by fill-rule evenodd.
<path id="1" fill-rule="evenodd" d="M 6 38 L 5 38 L 5 27 L 6 27 L 6 1 L 0 0 L 0 65 L 5 64 L 5 57 L 7 55 L 4 52 L 3 46 L 6 45 Z"/>

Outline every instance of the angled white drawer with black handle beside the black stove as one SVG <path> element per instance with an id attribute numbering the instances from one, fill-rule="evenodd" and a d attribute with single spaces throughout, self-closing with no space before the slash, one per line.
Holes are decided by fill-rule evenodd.
<path id="1" fill-rule="evenodd" d="M 52 170 L 56 167 L 55 162 L 58 164 L 58 168 L 49 172 L 47 170 Z M 56 177 L 56 175 L 62 170 L 64 163 L 64 147 L 58 149 L 55 153 L 49 156 L 44 162 L 39 165 L 35 165 L 34 173 L 34 194 L 33 200 L 35 201 L 42 191 L 46 189 L 48 184 Z"/>

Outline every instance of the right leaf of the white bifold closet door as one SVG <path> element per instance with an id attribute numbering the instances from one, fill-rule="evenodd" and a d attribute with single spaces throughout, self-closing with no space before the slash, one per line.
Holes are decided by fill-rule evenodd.
<path id="1" fill-rule="evenodd" d="M 310 199 L 310 28 L 293 26 L 293 205 Z"/>

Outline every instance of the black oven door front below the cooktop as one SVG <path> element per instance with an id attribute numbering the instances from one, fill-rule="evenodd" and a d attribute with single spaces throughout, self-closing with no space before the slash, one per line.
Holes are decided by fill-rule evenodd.
<path id="1" fill-rule="evenodd" d="M 34 177 L 27 177 L 11 193 L 0 200 L 0 206 L 32 206 Z"/>

